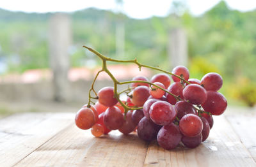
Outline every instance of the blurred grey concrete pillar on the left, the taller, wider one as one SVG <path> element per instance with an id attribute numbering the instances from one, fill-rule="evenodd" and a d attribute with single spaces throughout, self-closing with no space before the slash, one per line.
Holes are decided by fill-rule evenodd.
<path id="1" fill-rule="evenodd" d="M 49 23 L 49 54 L 53 73 L 54 100 L 67 101 L 69 95 L 68 69 L 70 59 L 68 47 L 72 33 L 70 17 L 64 13 L 52 15 Z"/>

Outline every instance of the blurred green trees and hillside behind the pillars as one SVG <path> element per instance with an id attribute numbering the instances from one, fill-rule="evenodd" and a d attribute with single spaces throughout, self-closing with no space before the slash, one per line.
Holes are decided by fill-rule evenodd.
<path id="1" fill-rule="evenodd" d="M 8 71 L 49 67 L 47 33 L 51 14 L 0 9 L 0 61 L 8 63 Z M 95 59 L 82 48 L 85 44 L 118 58 L 115 29 L 120 15 L 94 8 L 70 13 L 74 38 L 70 48 L 72 66 L 84 66 L 86 59 Z M 225 96 L 242 99 L 248 105 L 255 103 L 256 10 L 230 10 L 221 1 L 199 17 L 185 11 L 179 17 L 172 13 L 143 20 L 125 15 L 121 18 L 125 24 L 124 59 L 136 57 L 144 64 L 170 70 L 166 61 L 168 33 L 173 27 L 182 27 L 188 35 L 191 77 L 200 79 L 208 72 L 220 73 L 224 80 L 221 92 Z M 247 80 L 243 89 L 236 83 L 239 78 Z M 249 94 L 252 96 L 246 98 Z"/>

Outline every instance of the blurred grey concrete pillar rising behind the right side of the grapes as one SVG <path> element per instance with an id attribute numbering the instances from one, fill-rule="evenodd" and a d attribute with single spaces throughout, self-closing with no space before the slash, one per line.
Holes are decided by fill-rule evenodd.
<path id="1" fill-rule="evenodd" d="M 183 29 L 176 28 L 170 31 L 168 42 L 168 57 L 171 68 L 188 65 L 188 41 Z"/>

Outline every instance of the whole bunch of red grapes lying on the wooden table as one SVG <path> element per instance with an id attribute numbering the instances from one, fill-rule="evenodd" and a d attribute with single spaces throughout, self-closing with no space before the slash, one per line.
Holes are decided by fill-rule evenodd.
<path id="1" fill-rule="evenodd" d="M 96 137 L 116 129 L 124 134 L 137 131 L 142 140 L 157 139 L 157 143 L 167 150 L 179 143 L 189 148 L 197 147 L 209 136 L 212 115 L 221 115 L 227 108 L 227 100 L 218 92 L 223 80 L 218 73 L 207 73 L 201 81 L 189 78 L 189 71 L 184 66 L 175 67 L 172 73 L 182 80 L 172 75 L 171 84 L 170 77 L 164 73 L 154 75 L 150 82 L 145 76 L 132 78 L 132 81 L 142 82 L 131 83 L 132 90 L 122 102 L 143 109 L 129 110 L 126 114 L 114 96 L 113 87 L 100 89 L 97 103 L 89 107 L 84 105 L 77 112 L 77 127 L 91 128 Z"/>

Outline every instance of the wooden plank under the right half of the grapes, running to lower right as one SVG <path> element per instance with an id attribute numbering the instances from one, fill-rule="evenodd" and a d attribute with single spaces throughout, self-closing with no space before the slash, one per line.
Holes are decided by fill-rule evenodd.
<path id="1" fill-rule="evenodd" d="M 256 166 L 225 117 L 214 117 L 209 138 L 196 149 L 164 150 L 150 143 L 144 166 Z"/>

